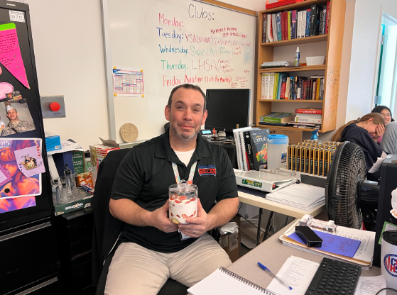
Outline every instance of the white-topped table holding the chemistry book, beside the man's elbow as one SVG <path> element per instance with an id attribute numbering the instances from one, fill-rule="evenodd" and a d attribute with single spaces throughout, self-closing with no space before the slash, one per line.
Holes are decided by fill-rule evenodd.
<path id="1" fill-rule="evenodd" d="M 270 216 L 268 218 L 268 223 L 266 225 L 264 239 L 266 239 L 268 235 L 268 230 L 271 224 L 271 218 L 273 217 L 273 212 L 282 213 L 286 216 L 293 216 L 295 218 L 300 218 L 305 214 L 310 214 L 312 216 L 317 216 L 322 211 L 325 211 L 325 205 L 320 205 L 315 208 L 312 208 L 310 211 L 301 210 L 299 208 L 295 208 L 293 206 L 288 206 L 285 204 L 277 203 L 274 201 L 269 201 L 261 196 L 254 196 L 253 194 L 247 194 L 245 192 L 239 191 L 239 201 L 241 203 L 249 204 L 252 206 L 259 207 L 259 223 L 258 223 L 258 231 L 256 233 L 256 245 L 259 245 L 259 237 L 261 235 L 261 217 L 263 213 L 263 209 L 270 210 Z"/>

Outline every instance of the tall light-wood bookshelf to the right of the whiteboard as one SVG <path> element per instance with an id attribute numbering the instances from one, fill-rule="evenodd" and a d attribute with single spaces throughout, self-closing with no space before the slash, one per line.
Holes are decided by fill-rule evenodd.
<path id="1" fill-rule="evenodd" d="M 286 112 L 291 112 L 293 108 L 300 108 L 302 103 L 305 107 L 322 108 L 322 126 L 320 132 L 327 132 L 335 130 L 337 121 L 337 104 L 339 94 L 339 77 L 340 67 L 342 60 L 342 43 L 344 33 L 344 13 L 346 10 L 345 0 L 331 0 L 330 1 L 330 23 L 328 26 L 327 35 L 317 35 L 307 38 L 298 38 L 292 40 L 281 40 L 270 43 L 262 42 L 262 29 L 263 29 L 263 13 L 276 13 L 282 11 L 290 11 L 297 9 L 310 9 L 313 4 L 320 6 L 327 6 L 327 1 L 324 0 L 306 0 L 295 4 L 276 7 L 259 12 L 259 42 L 258 42 L 258 61 L 257 61 L 257 74 L 256 74 L 256 126 L 259 128 L 281 128 L 287 130 L 303 130 L 312 131 L 312 128 L 294 128 L 284 126 L 266 126 L 259 125 L 261 116 L 271 113 L 273 106 L 285 104 Z M 310 43 L 324 43 L 326 42 L 326 52 L 319 52 L 317 55 L 325 55 L 325 65 L 315 66 L 300 66 L 300 67 L 278 67 L 262 69 L 263 62 L 272 62 L 273 55 L 276 50 L 284 46 L 297 46 Z M 288 56 L 285 60 L 291 60 Z M 304 62 L 301 60 L 300 62 Z M 315 71 L 315 72 L 313 72 Z M 261 99 L 261 80 L 262 74 L 266 72 L 296 72 L 297 75 L 310 77 L 312 74 L 322 74 L 324 79 L 324 99 L 323 100 L 293 100 L 293 99 Z M 312 73 L 313 72 L 313 73 Z M 308 106 L 310 105 L 310 106 Z M 284 107 L 284 105 L 283 105 Z"/>

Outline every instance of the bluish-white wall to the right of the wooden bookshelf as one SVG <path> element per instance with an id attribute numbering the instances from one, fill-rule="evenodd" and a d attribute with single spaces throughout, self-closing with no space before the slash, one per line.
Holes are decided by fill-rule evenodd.
<path id="1" fill-rule="evenodd" d="M 397 1 L 357 0 L 346 121 L 369 113 L 373 107 L 382 11 L 397 18 Z"/>

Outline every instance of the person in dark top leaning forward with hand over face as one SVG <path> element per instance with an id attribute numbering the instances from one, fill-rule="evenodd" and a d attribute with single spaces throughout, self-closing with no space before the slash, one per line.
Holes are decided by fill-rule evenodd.
<path id="1" fill-rule="evenodd" d="M 384 118 L 379 113 L 368 113 L 357 120 L 349 121 L 337 130 L 332 137 L 333 141 L 349 141 L 356 143 L 364 152 L 366 164 L 366 177 L 369 180 L 377 180 L 381 177 L 381 170 L 368 173 L 378 157 L 381 157 L 382 148 L 374 141 L 384 134 Z M 369 133 L 373 133 L 371 137 Z"/>

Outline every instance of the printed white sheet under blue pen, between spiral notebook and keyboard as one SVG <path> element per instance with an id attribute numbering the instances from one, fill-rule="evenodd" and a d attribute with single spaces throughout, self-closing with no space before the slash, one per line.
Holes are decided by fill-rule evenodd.
<path id="1" fill-rule="evenodd" d="M 292 287 L 292 290 L 287 289 L 276 279 L 273 279 L 266 289 L 279 295 L 304 295 L 319 265 L 317 262 L 305 260 L 300 257 L 288 257 L 278 271 L 277 277 L 288 283 Z"/>

